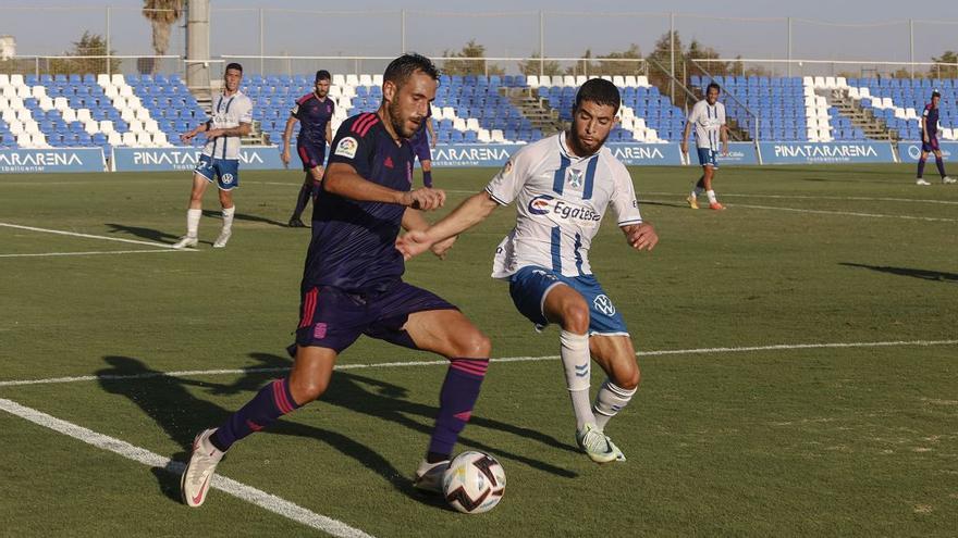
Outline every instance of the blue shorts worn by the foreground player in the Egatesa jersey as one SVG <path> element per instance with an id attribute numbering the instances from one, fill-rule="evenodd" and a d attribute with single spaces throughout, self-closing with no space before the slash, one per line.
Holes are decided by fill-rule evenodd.
<path id="1" fill-rule="evenodd" d="M 565 284 L 578 291 L 589 303 L 589 335 L 628 336 L 628 327 L 622 313 L 593 275 L 562 276 L 552 270 L 529 265 L 509 277 L 509 295 L 519 313 L 535 323 L 537 328 L 549 325 L 542 312 L 549 291 Z"/>

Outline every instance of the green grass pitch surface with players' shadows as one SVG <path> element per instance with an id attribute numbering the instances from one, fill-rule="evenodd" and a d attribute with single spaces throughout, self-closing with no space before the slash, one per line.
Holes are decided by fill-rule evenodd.
<path id="1" fill-rule="evenodd" d="M 493 172 L 438 170 L 450 203 L 428 216 Z M 639 350 L 609 428 L 627 463 L 574 450 L 557 360 L 495 362 L 458 449 L 495 455 L 508 486 L 492 512 L 455 513 L 408 486 L 445 367 L 377 366 L 439 358 L 363 339 L 321 401 L 220 474 L 377 537 L 954 536 L 958 188 L 904 165 L 729 167 L 718 213 L 686 207 L 693 167 L 631 172 L 661 242 L 631 251 L 606 222 L 590 257 Z M 0 176 L 0 399 L 183 461 L 290 365 L 300 182 L 243 172 L 229 247 L 211 248 L 210 191 L 200 248 L 171 252 L 152 243 L 183 233 L 188 172 Z M 489 277 L 513 221 L 496 210 L 406 279 L 458 304 L 494 358 L 548 358 L 555 328 L 536 334 Z M 174 473 L 8 412 L 0 431 L 0 535 L 322 535 L 219 490 L 187 509 Z"/>

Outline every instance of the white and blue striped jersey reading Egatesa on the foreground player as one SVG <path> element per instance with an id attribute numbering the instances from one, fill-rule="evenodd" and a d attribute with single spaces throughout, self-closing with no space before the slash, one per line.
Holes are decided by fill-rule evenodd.
<path id="1" fill-rule="evenodd" d="M 516 202 L 516 227 L 496 248 L 494 278 L 529 265 L 564 276 L 591 275 L 589 247 L 605 209 L 612 205 L 619 226 L 642 222 L 625 165 L 605 147 L 575 157 L 566 149 L 565 133 L 517 151 L 486 191 L 501 205 Z"/>

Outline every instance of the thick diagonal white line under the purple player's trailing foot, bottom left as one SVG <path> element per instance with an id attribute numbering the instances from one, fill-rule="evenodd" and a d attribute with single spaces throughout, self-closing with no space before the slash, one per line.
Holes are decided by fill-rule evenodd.
<path id="1" fill-rule="evenodd" d="M 144 448 L 136 447 L 126 441 L 98 434 L 83 426 L 77 426 L 71 422 L 66 422 L 47 413 L 37 411 L 25 405 L 21 405 L 12 400 L 0 398 L 0 410 L 7 411 L 12 415 L 29 421 L 39 426 L 50 428 L 53 431 L 78 439 L 87 445 L 93 445 L 102 450 L 120 454 L 127 460 L 133 460 L 144 465 L 155 468 L 162 468 L 174 475 L 183 473 L 185 465 L 181 462 L 174 462 L 169 458 L 156 454 Z M 212 488 L 230 493 L 233 497 L 242 499 L 250 504 L 269 510 L 283 517 L 302 523 L 317 530 L 322 530 L 332 536 L 351 537 L 351 538 L 372 538 L 370 535 L 353 528 L 345 523 L 327 517 L 316 512 L 311 512 L 298 504 L 294 504 L 287 500 L 281 499 L 274 495 L 267 493 L 260 489 L 226 478 L 225 476 L 214 475 L 210 483 Z M 184 508 L 183 510 L 188 510 Z"/>

